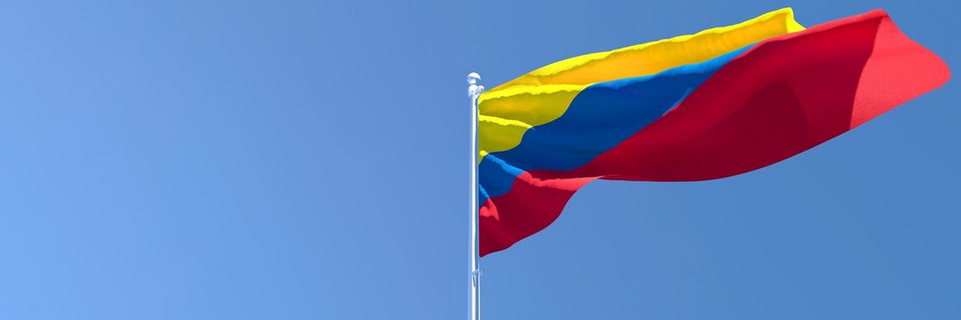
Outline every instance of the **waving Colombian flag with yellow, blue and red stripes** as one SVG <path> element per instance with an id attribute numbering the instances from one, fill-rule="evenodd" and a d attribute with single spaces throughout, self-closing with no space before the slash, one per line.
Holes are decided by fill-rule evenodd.
<path id="1" fill-rule="evenodd" d="M 749 172 L 949 77 L 880 10 L 804 29 L 783 9 L 554 62 L 480 95 L 480 256 L 543 230 L 596 179 Z"/>

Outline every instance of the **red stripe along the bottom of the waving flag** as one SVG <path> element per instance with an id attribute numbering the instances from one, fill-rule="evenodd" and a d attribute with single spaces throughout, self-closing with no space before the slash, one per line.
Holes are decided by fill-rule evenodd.
<path id="1" fill-rule="evenodd" d="M 676 111 L 572 171 L 533 171 L 484 205 L 481 256 L 534 234 L 596 178 L 700 181 L 797 155 L 941 86 L 945 62 L 868 12 L 759 43 Z M 489 216 L 489 215 L 488 215 Z"/>

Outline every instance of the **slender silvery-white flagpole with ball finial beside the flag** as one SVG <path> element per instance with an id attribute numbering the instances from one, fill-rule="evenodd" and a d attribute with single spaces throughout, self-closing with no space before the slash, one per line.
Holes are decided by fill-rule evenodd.
<path id="1" fill-rule="evenodd" d="M 470 231 L 470 280 L 471 320 L 480 320 L 480 253 L 478 247 L 478 98 L 483 92 L 480 75 L 467 75 L 467 95 L 471 98 L 471 231 Z"/>

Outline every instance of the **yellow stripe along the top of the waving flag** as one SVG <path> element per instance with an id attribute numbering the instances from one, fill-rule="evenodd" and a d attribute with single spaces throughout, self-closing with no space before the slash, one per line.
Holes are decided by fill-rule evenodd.
<path id="1" fill-rule="evenodd" d="M 553 121 L 586 86 L 705 62 L 804 28 L 790 8 L 732 26 L 554 62 L 480 95 L 480 159 L 516 147 L 530 127 Z"/>

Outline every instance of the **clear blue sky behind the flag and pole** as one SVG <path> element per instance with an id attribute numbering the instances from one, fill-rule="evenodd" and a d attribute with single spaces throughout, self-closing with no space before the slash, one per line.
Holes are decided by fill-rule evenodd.
<path id="1" fill-rule="evenodd" d="M 548 62 L 793 6 L 4 1 L 0 319 L 463 319 L 468 100 Z M 961 319 L 952 80 L 750 174 L 598 182 L 482 259 L 484 319 Z"/>

